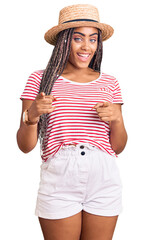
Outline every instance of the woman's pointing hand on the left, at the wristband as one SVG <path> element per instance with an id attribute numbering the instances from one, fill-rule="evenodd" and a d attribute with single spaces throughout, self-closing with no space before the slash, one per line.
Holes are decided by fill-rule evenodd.
<path id="1" fill-rule="evenodd" d="M 56 106 L 52 107 L 52 102 L 55 100 L 57 99 L 52 95 L 46 96 L 44 92 L 39 93 L 28 109 L 29 121 L 36 122 L 42 114 L 53 112 Z"/>

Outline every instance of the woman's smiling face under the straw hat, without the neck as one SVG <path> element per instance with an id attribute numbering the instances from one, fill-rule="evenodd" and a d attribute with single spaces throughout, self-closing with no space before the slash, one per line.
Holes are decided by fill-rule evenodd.
<path id="1" fill-rule="evenodd" d="M 97 41 L 97 28 L 75 28 L 68 62 L 76 68 L 87 68 L 97 49 Z"/>

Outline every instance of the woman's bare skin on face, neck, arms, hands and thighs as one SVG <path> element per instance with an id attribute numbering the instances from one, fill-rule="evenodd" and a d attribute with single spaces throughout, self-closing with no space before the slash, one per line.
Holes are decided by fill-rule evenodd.
<path id="1" fill-rule="evenodd" d="M 74 31 L 69 60 L 62 76 L 76 82 L 89 82 L 99 77 L 99 73 L 90 69 L 89 63 L 97 49 L 97 29 L 80 27 Z M 89 54 L 88 58 L 79 54 Z M 23 100 L 22 114 L 29 110 L 29 120 L 35 122 L 43 113 L 54 111 L 52 102 L 56 98 L 44 93 L 37 95 L 35 101 Z M 119 154 L 127 142 L 120 104 L 109 102 L 98 103 L 93 106 L 102 121 L 110 125 L 110 143 L 113 150 Z M 17 132 L 17 142 L 21 151 L 28 153 L 37 144 L 37 124 L 26 126 L 22 122 Z M 39 218 L 45 240 L 111 240 L 118 216 L 104 217 L 81 211 L 74 216 L 58 220 Z"/>

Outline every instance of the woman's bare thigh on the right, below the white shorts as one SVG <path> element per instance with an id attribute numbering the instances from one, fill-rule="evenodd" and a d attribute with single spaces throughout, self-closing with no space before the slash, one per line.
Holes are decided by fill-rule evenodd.
<path id="1" fill-rule="evenodd" d="M 118 216 L 103 217 L 83 211 L 80 240 L 111 240 Z"/>

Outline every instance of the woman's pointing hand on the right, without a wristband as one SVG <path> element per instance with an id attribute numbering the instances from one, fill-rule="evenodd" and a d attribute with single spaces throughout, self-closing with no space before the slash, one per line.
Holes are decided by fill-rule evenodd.
<path id="1" fill-rule="evenodd" d="M 110 102 L 97 103 L 93 106 L 102 121 L 120 122 L 122 119 L 121 105 Z"/>

